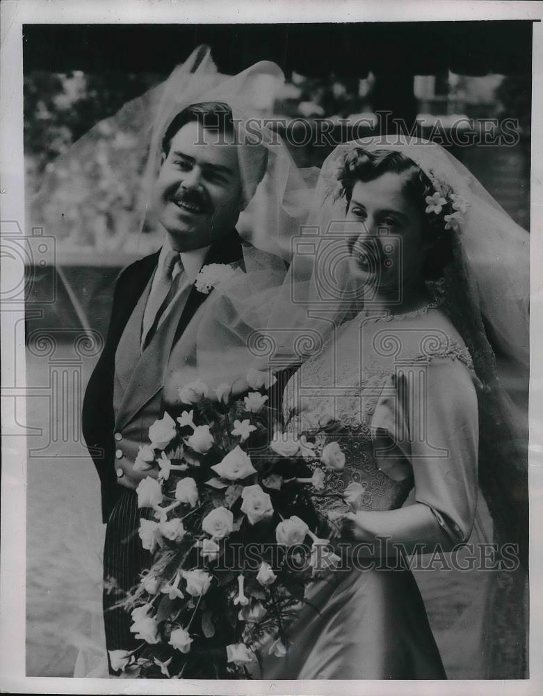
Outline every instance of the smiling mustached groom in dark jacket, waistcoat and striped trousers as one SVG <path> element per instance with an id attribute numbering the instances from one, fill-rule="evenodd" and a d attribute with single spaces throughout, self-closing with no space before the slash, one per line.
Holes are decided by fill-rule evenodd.
<path id="1" fill-rule="evenodd" d="M 222 102 L 192 104 L 170 123 L 154 190 L 165 242 L 161 251 L 120 274 L 104 351 L 86 390 L 83 434 L 100 477 L 107 523 L 108 650 L 135 644 L 129 615 L 114 605 L 150 564 L 138 537 L 135 489 L 143 477 L 156 473 L 134 470 L 133 464 L 140 445 L 149 445 L 149 426 L 163 417 L 165 375 L 193 354 L 195 328 L 208 297 L 196 290 L 195 278 L 204 264 L 243 267 L 235 225 L 264 177 L 267 156 L 264 148 L 246 148 L 250 166 L 243 177 L 239 147 L 232 111 Z"/>

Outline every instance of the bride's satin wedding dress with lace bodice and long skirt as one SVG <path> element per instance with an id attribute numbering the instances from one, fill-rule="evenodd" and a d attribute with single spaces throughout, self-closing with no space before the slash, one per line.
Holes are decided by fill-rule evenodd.
<path id="1" fill-rule="evenodd" d="M 314 496 L 319 511 L 347 512 L 341 493 L 351 483 L 362 486 L 364 510 L 398 509 L 414 487 L 416 501 L 430 506 L 447 537 L 467 539 L 477 496 L 474 383 L 462 338 L 435 306 L 343 324 L 284 393 L 284 417 L 295 434 L 316 432 L 330 416 L 341 423 L 327 441 L 340 443 L 346 466 L 327 473 L 322 497 Z M 423 410 L 428 398 L 431 413 Z M 376 456 L 387 438 L 394 448 Z M 416 541 L 419 530 L 410 536 Z M 264 651 L 261 678 L 443 679 L 414 577 L 389 568 L 377 563 L 315 580 L 287 631 L 286 656 Z"/>

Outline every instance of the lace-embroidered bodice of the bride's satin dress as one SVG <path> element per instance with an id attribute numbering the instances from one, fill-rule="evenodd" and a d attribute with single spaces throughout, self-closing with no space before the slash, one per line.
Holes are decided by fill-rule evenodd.
<path id="1" fill-rule="evenodd" d="M 414 484 L 410 438 L 419 429 L 413 403 L 424 403 L 438 361 L 473 374 L 460 335 L 427 309 L 385 321 L 356 317 L 293 374 L 284 392 L 286 428 L 317 436 L 321 445 L 337 441 L 346 457 L 343 470 L 325 469 L 325 489 L 314 494 L 321 512 L 350 509 L 343 499 L 350 484 L 359 484 L 351 487 L 358 509 L 405 503 Z"/>

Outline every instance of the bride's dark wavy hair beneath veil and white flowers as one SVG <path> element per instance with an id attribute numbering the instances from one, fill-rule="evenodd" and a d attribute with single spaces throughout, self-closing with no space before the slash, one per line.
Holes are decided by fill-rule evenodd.
<path id="1" fill-rule="evenodd" d="M 353 148 L 343 159 L 338 173 L 341 183 L 339 196 L 346 199 L 349 208 L 352 189 L 359 181 L 368 182 L 383 174 L 405 175 L 404 191 L 419 210 L 422 219 L 422 235 L 429 251 L 423 264 L 426 280 L 435 280 L 443 274 L 444 268 L 453 258 L 453 232 L 445 229 L 444 215 L 453 212 L 450 204 L 444 205 L 441 213 L 426 213 L 426 196 L 432 196 L 435 187 L 428 176 L 412 159 L 396 150 L 373 150 Z"/>

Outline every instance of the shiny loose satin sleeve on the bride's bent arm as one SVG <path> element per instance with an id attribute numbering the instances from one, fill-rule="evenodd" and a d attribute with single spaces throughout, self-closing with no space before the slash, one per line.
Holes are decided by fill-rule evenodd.
<path id="1" fill-rule="evenodd" d="M 460 361 L 439 358 L 389 377 L 372 419 L 375 459 L 391 478 L 414 478 L 454 544 L 467 541 L 477 503 L 478 406 L 474 379 Z"/>

